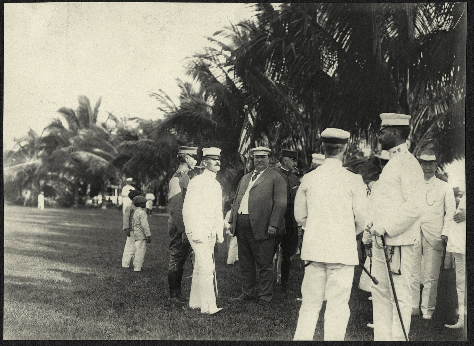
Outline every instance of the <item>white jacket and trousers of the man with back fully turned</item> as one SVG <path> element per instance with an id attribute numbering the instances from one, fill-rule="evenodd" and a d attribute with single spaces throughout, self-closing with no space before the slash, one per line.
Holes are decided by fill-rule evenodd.
<path id="1" fill-rule="evenodd" d="M 344 340 L 354 266 L 359 263 L 356 235 L 365 226 L 364 181 L 340 160 L 326 158 L 303 176 L 294 203 L 295 219 L 305 229 L 301 259 L 310 263 L 293 340 L 313 339 L 325 297 L 324 340 Z"/>

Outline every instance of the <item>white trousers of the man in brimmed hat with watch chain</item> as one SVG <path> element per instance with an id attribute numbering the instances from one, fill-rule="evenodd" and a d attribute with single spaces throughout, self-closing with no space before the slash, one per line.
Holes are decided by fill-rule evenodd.
<path id="1" fill-rule="evenodd" d="M 423 293 L 421 294 L 421 312 L 423 316 L 431 316 L 435 311 L 436 292 L 438 289 L 438 276 L 441 269 L 441 259 L 443 251 L 435 250 L 428 243 L 423 233 L 421 242 L 413 245 L 411 257 L 411 308 L 413 312 L 419 312 L 420 294 L 420 272 L 423 262 Z"/>

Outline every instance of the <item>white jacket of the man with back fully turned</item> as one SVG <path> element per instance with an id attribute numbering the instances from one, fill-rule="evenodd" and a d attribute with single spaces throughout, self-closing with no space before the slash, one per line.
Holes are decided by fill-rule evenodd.
<path id="1" fill-rule="evenodd" d="M 357 265 L 356 235 L 364 230 L 365 184 L 337 159 L 306 174 L 296 193 L 294 214 L 304 227 L 301 259 Z"/>

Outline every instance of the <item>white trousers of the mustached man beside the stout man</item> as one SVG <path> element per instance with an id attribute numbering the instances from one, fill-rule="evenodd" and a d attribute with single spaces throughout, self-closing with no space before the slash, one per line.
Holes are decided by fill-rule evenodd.
<path id="1" fill-rule="evenodd" d="M 195 254 L 194 270 L 192 271 L 191 293 L 189 307 L 201 308 L 201 312 L 217 309 L 216 294 L 214 293 L 214 262 L 212 253 L 216 245 L 216 237 L 203 239 L 201 244 L 193 242 L 190 237 L 192 250 Z"/>

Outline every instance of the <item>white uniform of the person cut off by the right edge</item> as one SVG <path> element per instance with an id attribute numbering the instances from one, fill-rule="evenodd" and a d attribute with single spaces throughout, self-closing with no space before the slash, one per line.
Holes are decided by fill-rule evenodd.
<path id="1" fill-rule="evenodd" d="M 457 206 L 456 213 L 466 209 L 466 194 Z M 456 324 L 464 325 L 465 318 L 465 279 L 466 279 L 466 222 L 452 222 L 451 227 L 442 235 L 447 236 L 446 251 L 452 252 L 456 263 L 456 292 L 459 319 Z M 466 311 L 467 312 L 467 311 Z M 446 325 L 445 325 L 446 327 Z"/>

